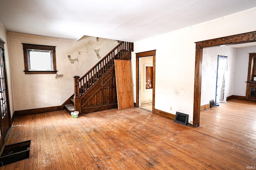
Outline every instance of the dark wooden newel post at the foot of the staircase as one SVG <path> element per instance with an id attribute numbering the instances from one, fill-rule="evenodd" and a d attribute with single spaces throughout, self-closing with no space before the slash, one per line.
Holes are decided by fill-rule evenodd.
<path id="1" fill-rule="evenodd" d="M 80 76 L 74 76 L 74 108 L 75 111 L 79 111 L 81 114 L 81 101 L 80 101 L 80 90 L 79 90 L 79 78 Z"/>

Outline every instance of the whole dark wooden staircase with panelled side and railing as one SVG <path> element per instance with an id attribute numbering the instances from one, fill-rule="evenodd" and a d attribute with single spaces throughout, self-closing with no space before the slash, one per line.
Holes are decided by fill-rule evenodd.
<path id="1" fill-rule="evenodd" d="M 120 42 L 82 77 L 74 76 L 74 95 L 65 109 L 79 114 L 117 107 L 114 60 L 130 60 L 133 43 Z"/>

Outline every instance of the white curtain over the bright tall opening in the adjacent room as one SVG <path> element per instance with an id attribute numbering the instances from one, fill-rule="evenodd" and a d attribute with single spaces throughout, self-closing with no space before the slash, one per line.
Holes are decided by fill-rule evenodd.
<path id="1" fill-rule="evenodd" d="M 216 98 L 215 105 L 220 106 L 220 102 L 226 102 L 225 74 L 228 69 L 227 57 L 218 57 L 217 82 L 216 82 Z"/>

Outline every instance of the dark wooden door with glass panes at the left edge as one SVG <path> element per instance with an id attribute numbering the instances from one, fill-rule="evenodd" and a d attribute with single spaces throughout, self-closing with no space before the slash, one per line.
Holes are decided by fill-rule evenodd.
<path id="1" fill-rule="evenodd" d="M 1 40 L 1 39 L 0 39 Z M 4 56 L 4 43 L 0 41 L 0 146 L 4 143 L 4 138 L 8 132 L 10 125 L 10 109 L 9 109 L 9 99 L 8 99 L 8 86 L 6 77 L 6 64 Z"/>

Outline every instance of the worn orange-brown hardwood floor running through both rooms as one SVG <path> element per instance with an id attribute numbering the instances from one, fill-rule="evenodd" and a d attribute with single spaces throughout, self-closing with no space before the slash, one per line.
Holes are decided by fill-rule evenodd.
<path id="1" fill-rule="evenodd" d="M 246 169 L 256 166 L 256 103 L 201 111 L 198 128 L 140 108 L 16 117 L 6 145 L 27 140 L 30 158 L 1 170 Z"/>

